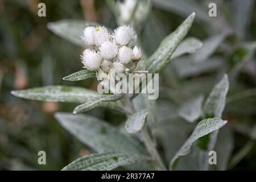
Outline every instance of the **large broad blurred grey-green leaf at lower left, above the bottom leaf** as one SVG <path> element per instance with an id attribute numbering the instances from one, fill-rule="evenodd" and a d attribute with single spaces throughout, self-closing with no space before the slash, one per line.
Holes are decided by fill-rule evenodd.
<path id="1" fill-rule="evenodd" d="M 108 122 L 86 114 L 56 113 L 55 118 L 66 130 L 96 152 L 133 152 L 144 154 L 141 144 Z"/>

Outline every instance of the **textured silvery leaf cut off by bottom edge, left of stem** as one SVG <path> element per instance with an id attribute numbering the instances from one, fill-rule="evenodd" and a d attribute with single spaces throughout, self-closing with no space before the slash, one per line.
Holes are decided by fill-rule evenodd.
<path id="1" fill-rule="evenodd" d="M 90 154 L 76 159 L 64 167 L 62 171 L 110 171 L 119 166 L 143 162 L 148 159 L 146 156 L 127 152 Z"/>

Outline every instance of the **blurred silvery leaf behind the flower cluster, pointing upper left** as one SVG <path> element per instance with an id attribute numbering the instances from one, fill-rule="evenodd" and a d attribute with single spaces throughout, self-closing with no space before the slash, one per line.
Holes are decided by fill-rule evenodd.
<path id="1" fill-rule="evenodd" d="M 76 19 L 64 19 L 47 24 L 49 30 L 56 35 L 59 35 L 61 38 L 66 39 L 77 46 L 83 47 L 85 46 L 85 43 L 81 39 L 82 31 L 88 26 L 99 26 L 99 24 Z"/>

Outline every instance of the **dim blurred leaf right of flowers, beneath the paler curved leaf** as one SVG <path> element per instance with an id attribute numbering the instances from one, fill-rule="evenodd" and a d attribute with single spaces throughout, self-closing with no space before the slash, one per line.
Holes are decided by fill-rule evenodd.
<path id="1" fill-rule="evenodd" d="M 173 60 L 172 63 L 176 69 L 177 75 L 180 78 L 185 78 L 216 71 L 217 68 L 221 67 L 223 61 L 219 57 L 210 57 L 207 61 L 203 61 L 202 63 L 193 63 L 193 60 L 189 56 L 181 56 Z"/>

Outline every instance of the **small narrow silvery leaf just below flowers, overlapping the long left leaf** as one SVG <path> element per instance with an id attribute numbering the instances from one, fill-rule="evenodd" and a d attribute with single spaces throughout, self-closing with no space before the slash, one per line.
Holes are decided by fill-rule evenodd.
<path id="1" fill-rule="evenodd" d="M 104 102 L 114 102 L 118 101 L 123 97 L 123 94 L 108 94 L 91 98 L 89 101 L 86 101 L 84 104 L 76 106 L 73 111 L 73 114 L 82 113 L 93 109 L 94 107 L 104 103 Z"/>

